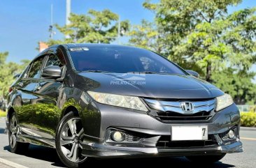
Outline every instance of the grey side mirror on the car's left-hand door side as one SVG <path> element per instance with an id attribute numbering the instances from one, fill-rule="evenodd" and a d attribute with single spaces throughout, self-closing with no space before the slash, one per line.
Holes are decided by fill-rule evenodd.
<path id="1" fill-rule="evenodd" d="M 62 77 L 62 70 L 59 66 L 48 66 L 43 68 L 42 77 L 45 79 L 57 79 Z"/>

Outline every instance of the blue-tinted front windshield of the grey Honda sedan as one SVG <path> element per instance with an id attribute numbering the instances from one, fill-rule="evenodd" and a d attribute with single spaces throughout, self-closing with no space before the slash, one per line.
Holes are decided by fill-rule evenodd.
<path id="1" fill-rule="evenodd" d="M 185 75 L 185 72 L 162 56 L 131 47 L 80 47 L 69 49 L 79 72 L 148 72 Z"/>

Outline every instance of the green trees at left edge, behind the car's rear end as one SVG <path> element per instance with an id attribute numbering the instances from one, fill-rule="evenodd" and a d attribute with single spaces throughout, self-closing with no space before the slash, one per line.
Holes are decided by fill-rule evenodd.
<path id="1" fill-rule="evenodd" d="M 13 76 L 22 72 L 29 63 L 27 60 L 22 60 L 21 64 L 13 62 L 6 63 L 7 56 L 8 52 L 0 52 L 0 98 L 6 98 L 10 84 L 15 80 Z"/>

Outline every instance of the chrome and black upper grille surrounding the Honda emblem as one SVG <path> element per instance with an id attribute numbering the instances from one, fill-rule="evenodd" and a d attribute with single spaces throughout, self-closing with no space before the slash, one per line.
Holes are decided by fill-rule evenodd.
<path id="1" fill-rule="evenodd" d="M 161 121 L 206 121 L 215 114 L 215 99 L 189 101 L 189 100 L 153 100 L 144 99 L 145 102 L 156 112 L 150 112 L 150 115 Z M 192 110 L 187 112 L 182 108 L 183 102 L 190 102 Z"/>

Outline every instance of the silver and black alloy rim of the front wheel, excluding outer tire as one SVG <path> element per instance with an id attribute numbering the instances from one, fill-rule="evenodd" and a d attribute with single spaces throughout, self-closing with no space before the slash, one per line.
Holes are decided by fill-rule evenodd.
<path id="1" fill-rule="evenodd" d="M 69 119 L 64 123 L 59 143 L 62 153 L 71 162 L 83 162 L 87 158 L 81 154 L 83 135 L 84 130 L 80 118 Z"/>

